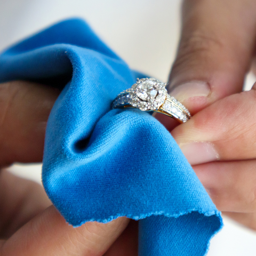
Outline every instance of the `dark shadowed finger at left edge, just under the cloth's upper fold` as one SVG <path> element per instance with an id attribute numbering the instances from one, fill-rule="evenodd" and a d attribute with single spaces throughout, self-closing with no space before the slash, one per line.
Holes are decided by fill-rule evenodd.
<path id="1" fill-rule="evenodd" d="M 46 122 L 58 94 L 35 83 L 0 84 L 0 166 L 42 161 Z"/>

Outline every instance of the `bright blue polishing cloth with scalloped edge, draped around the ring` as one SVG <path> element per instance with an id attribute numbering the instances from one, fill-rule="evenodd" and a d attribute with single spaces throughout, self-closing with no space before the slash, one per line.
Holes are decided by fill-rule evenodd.
<path id="1" fill-rule="evenodd" d="M 0 82 L 62 89 L 47 123 L 42 180 L 67 222 L 139 220 L 139 255 L 205 255 L 222 226 L 171 134 L 138 109 L 110 109 L 136 75 L 79 19 L 0 55 Z"/>

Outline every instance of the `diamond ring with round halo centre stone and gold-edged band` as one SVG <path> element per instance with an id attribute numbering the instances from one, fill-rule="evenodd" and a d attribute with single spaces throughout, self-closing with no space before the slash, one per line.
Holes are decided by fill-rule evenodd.
<path id="1" fill-rule="evenodd" d="M 189 111 L 165 89 L 166 83 L 155 78 L 137 78 L 137 82 L 117 95 L 112 108 L 138 108 L 170 116 L 180 123 L 191 117 Z"/>

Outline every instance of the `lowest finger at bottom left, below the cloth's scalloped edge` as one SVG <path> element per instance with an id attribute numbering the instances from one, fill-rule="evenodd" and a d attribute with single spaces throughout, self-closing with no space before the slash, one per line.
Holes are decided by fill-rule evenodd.
<path id="1" fill-rule="evenodd" d="M 128 222 L 129 219 L 121 217 L 109 223 L 86 222 L 74 228 L 50 206 L 2 244 L 1 256 L 100 256 Z"/>

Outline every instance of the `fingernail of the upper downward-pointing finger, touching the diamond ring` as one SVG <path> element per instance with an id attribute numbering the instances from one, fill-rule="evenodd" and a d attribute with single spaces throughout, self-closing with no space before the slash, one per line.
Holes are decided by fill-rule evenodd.
<path id="1" fill-rule="evenodd" d="M 209 94 L 209 84 L 202 81 L 187 82 L 175 87 L 172 91 L 170 91 L 170 95 L 179 101 L 193 97 L 207 97 Z"/>

